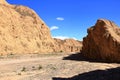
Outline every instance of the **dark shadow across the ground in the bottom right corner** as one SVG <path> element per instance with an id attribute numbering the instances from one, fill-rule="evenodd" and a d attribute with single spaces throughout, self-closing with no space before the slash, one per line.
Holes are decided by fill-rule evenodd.
<path id="1" fill-rule="evenodd" d="M 120 80 L 120 67 L 90 71 L 71 78 L 53 77 L 52 80 Z"/>

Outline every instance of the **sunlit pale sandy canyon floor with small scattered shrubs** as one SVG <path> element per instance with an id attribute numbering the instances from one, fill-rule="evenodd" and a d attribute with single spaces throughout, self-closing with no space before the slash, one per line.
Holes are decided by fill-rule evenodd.
<path id="1" fill-rule="evenodd" d="M 69 78 L 85 72 L 120 66 L 117 63 L 63 60 L 69 55 L 58 53 L 1 56 L 0 80 L 53 80 L 54 77 Z"/>

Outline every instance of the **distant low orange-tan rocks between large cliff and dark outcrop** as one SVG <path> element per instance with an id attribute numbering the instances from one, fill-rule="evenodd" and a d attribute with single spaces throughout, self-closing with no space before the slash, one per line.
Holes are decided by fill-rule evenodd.
<path id="1" fill-rule="evenodd" d="M 54 39 L 55 52 L 80 52 L 82 48 L 82 42 L 74 39 Z"/>

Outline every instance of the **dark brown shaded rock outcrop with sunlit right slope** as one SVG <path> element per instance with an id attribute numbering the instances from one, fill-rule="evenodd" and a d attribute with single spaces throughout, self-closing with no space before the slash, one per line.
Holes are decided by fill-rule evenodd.
<path id="1" fill-rule="evenodd" d="M 120 28 L 112 21 L 99 19 L 83 39 L 84 56 L 107 62 L 120 62 Z"/>

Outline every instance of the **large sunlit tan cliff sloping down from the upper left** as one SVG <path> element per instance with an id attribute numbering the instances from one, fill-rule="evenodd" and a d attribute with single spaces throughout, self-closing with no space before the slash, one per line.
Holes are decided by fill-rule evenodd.
<path id="1" fill-rule="evenodd" d="M 59 50 L 56 43 L 33 10 L 0 0 L 0 54 L 54 52 Z"/>

